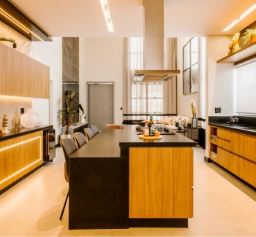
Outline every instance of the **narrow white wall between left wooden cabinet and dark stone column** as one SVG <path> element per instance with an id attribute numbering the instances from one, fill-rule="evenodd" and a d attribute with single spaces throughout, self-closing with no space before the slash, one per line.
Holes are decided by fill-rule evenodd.
<path id="1" fill-rule="evenodd" d="M 53 114 L 50 113 L 50 121 L 53 121 L 53 128 L 56 129 L 58 144 L 60 128 L 57 112 L 61 109 L 62 96 L 62 38 L 53 38 L 53 42 L 32 42 L 32 45 L 39 49 L 41 63 L 50 66 L 50 80 L 53 80 Z"/>

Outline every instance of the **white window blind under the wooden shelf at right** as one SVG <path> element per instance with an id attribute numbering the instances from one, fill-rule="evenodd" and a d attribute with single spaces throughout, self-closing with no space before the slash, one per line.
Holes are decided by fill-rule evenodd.
<path id="1" fill-rule="evenodd" d="M 236 68 L 236 112 L 256 114 L 256 61 Z"/>

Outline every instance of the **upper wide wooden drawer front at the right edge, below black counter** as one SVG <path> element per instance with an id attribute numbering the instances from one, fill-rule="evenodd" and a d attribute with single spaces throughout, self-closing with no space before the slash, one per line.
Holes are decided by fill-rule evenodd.
<path id="1" fill-rule="evenodd" d="M 256 162 L 256 139 L 250 136 L 232 133 L 231 149 L 236 155 Z"/>

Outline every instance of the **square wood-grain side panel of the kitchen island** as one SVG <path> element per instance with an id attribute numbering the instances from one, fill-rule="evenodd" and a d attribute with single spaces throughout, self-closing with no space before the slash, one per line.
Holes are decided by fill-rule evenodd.
<path id="1" fill-rule="evenodd" d="M 129 218 L 191 218 L 192 169 L 192 147 L 129 148 Z"/>

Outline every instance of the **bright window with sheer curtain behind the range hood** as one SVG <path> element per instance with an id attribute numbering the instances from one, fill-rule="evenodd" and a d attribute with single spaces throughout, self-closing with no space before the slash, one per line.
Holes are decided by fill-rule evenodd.
<path id="1" fill-rule="evenodd" d="M 130 65 L 143 69 L 143 38 L 130 38 Z M 132 82 L 132 114 L 163 113 L 163 82 Z"/>

